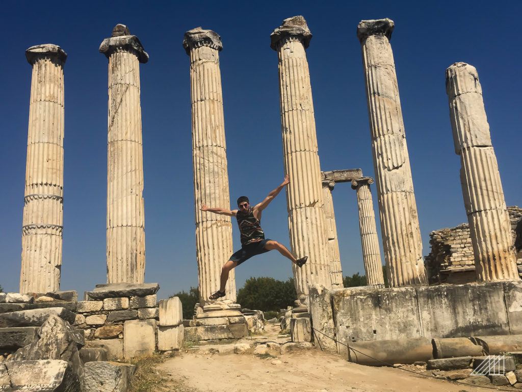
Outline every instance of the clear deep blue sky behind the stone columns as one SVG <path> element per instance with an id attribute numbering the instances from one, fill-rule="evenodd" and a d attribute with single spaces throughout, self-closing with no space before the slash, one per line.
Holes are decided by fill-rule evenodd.
<path id="1" fill-rule="evenodd" d="M 220 54 L 231 200 L 261 200 L 283 178 L 277 54 L 270 33 L 303 15 L 313 33 L 307 56 L 323 170 L 362 168 L 374 176 L 360 45 L 361 19 L 395 21 L 402 111 L 423 238 L 466 221 L 454 153 L 444 71 L 457 61 L 477 67 L 506 202 L 522 204 L 522 77 L 513 2 L 3 2 L 0 36 L 2 143 L 0 285 L 17 291 L 31 67 L 25 50 L 55 43 L 65 65 L 65 181 L 62 289 L 82 293 L 105 282 L 107 63 L 98 52 L 117 23 L 150 55 L 141 65 L 145 162 L 147 282 L 161 297 L 197 285 L 193 215 L 191 107 L 183 33 L 197 26 L 221 35 Z M 486 5 L 488 4 L 488 5 Z M 376 199 L 373 187 L 374 201 Z M 343 272 L 364 272 L 355 192 L 334 191 Z M 270 238 L 288 245 L 284 195 L 263 214 Z M 377 205 L 375 204 L 377 213 Z M 234 223 L 235 225 L 235 223 Z M 378 226 L 378 224 L 377 224 Z M 235 248 L 239 245 L 234 226 Z M 291 276 L 274 252 L 236 270 Z"/>

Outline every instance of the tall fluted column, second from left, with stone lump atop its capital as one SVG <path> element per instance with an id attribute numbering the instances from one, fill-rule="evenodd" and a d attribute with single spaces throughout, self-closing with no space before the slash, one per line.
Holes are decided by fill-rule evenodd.
<path id="1" fill-rule="evenodd" d="M 107 149 L 107 283 L 145 279 L 145 205 L 139 63 L 148 54 L 138 37 L 116 25 L 100 52 L 109 59 Z"/>

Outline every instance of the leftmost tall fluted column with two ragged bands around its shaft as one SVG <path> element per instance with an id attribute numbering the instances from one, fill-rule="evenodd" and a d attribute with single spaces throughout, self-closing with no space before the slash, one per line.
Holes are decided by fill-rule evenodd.
<path id="1" fill-rule="evenodd" d="M 26 50 L 32 65 L 23 206 L 21 293 L 60 290 L 64 171 L 64 72 L 57 45 Z"/>

